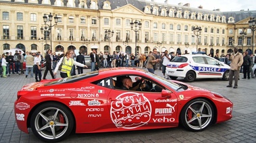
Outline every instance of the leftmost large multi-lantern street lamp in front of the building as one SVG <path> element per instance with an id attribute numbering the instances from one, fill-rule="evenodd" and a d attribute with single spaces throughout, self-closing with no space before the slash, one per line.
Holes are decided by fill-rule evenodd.
<path id="1" fill-rule="evenodd" d="M 43 15 L 43 21 L 45 22 L 45 32 L 47 31 L 47 33 L 49 32 L 49 34 L 51 34 L 52 32 L 51 32 L 51 28 L 53 28 L 54 26 L 56 26 L 57 25 L 57 22 L 58 22 L 58 17 L 57 17 L 57 15 L 55 15 L 55 17 L 54 17 L 54 21 L 55 21 L 55 24 L 51 24 L 51 21 L 53 21 L 53 15 L 51 15 L 51 13 L 48 15 L 48 17 L 49 17 L 49 21 L 50 21 L 50 24 L 47 24 L 46 22 L 47 22 L 47 15 L 45 14 L 45 15 Z M 43 30 L 44 30 L 44 28 L 43 28 L 43 26 L 41 27 L 41 33 L 43 34 Z M 52 36 L 52 34 L 51 34 L 51 36 Z M 46 35 L 46 37 L 47 37 L 47 35 Z M 50 41 L 51 41 L 51 37 L 50 37 Z M 53 49 L 53 47 L 52 47 L 52 41 L 51 41 L 51 50 Z"/>

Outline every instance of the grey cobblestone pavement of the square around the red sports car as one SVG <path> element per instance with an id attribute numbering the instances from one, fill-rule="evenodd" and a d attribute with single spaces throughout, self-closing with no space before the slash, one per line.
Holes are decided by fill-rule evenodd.
<path id="1" fill-rule="evenodd" d="M 155 74 L 162 75 L 161 70 L 156 70 Z M 47 78 L 50 79 L 49 74 Z M 177 80 L 184 81 L 180 78 Z M 0 78 L 1 143 L 41 142 L 31 131 L 30 134 L 20 132 L 14 116 L 14 101 L 17 91 L 23 85 L 34 81 L 30 75 L 28 78 L 25 78 L 25 75 Z M 226 95 L 234 103 L 232 120 L 210 126 L 203 132 L 188 132 L 184 128 L 178 127 L 130 132 L 72 134 L 62 142 L 256 142 L 256 79 L 240 79 L 238 89 L 227 88 L 228 81 L 220 79 L 197 80 L 189 84 Z"/>

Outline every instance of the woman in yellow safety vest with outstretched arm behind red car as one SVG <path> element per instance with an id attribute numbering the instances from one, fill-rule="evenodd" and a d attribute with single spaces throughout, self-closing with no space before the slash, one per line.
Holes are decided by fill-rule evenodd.
<path id="1" fill-rule="evenodd" d="M 53 75 L 57 74 L 57 70 L 59 70 L 59 66 L 61 66 L 60 67 L 60 76 L 62 78 L 70 77 L 73 65 L 88 68 L 86 65 L 76 62 L 76 60 L 74 60 L 72 58 L 72 51 L 68 50 L 68 52 L 66 52 L 65 56 L 63 56 L 62 58 L 59 59 L 59 62 L 57 63 L 57 66 L 54 70 Z"/>

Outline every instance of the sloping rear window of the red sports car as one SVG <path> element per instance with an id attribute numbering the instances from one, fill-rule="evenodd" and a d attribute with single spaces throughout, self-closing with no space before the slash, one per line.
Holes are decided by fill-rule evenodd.
<path id="1" fill-rule="evenodd" d="M 80 74 L 80 75 L 75 75 L 75 76 L 72 76 L 72 77 L 62 78 L 62 79 L 59 79 L 58 81 L 52 81 L 50 83 L 46 83 L 45 86 L 59 85 L 59 84 L 62 84 L 62 83 L 74 83 L 76 81 L 87 79 L 89 77 L 95 77 L 96 75 L 99 75 L 99 71 L 93 71 L 93 72 L 88 72 L 88 73 L 84 73 L 84 74 Z"/>

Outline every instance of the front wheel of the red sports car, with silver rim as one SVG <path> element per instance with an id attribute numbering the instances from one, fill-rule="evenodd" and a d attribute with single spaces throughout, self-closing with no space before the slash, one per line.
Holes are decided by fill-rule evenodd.
<path id="1" fill-rule="evenodd" d="M 205 130 L 213 122 L 214 109 L 205 99 L 188 102 L 180 113 L 180 123 L 190 131 Z"/>

